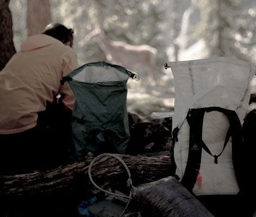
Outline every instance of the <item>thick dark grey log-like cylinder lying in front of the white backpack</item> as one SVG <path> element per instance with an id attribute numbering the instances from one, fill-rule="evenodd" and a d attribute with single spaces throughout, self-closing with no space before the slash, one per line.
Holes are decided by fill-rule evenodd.
<path id="1" fill-rule="evenodd" d="M 142 184 L 134 190 L 135 200 L 142 216 L 213 216 L 175 177 Z"/>

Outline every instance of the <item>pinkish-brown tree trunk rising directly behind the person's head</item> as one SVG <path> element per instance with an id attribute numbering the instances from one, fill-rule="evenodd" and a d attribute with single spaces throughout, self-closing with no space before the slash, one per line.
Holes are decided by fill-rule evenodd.
<path id="1" fill-rule="evenodd" d="M 27 0 L 28 36 L 41 34 L 46 25 L 51 23 L 49 0 Z"/>

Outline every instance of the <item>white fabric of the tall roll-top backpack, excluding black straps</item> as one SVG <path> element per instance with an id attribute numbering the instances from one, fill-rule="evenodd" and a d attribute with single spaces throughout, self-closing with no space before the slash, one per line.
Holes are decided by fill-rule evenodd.
<path id="1" fill-rule="evenodd" d="M 249 82 L 255 68 L 245 61 L 221 57 L 169 62 L 168 66 L 171 66 L 175 88 L 172 126 L 174 129 L 182 125 L 178 142 L 174 146 L 176 175 L 181 181 L 188 161 L 189 125 L 184 119 L 189 108 L 227 108 L 236 111 L 242 122 L 248 108 Z M 229 122 L 224 114 L 216 111 L 205 112 L 203 141 L 213 155 L 221 153 L 228 127 Z M 193 188 L 196 195 L 239 192 L 232 163 L 231 138 L 222 155 L 218 157 L 218 164 L 214 163 L 213 156 L 202 149 L 199 172 L 202 175 L 202 185 L 196 182 Z"/>

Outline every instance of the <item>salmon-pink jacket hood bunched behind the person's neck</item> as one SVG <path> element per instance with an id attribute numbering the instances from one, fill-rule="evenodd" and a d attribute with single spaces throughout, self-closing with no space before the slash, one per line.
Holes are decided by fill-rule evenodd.
<path id="1" fill-rule="evenodd" d="M 22 44 L 21 44 L 21 52 L 28 52 L 30 50 L 35 50 L 41 47 L 46 47 L 50 44 L 61 43 L 58 39 L 54 39 L 54 37 L 39 34 L 29 36 Z"/>

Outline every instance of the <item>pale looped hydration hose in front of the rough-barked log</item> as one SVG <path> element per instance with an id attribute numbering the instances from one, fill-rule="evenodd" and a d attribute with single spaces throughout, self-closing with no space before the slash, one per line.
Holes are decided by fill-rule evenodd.
<path id="1" fill-rule="evenodd" d="M 127 196 L 127 195 L 121 195 L 121 194 L 116 194 L 116 193 L 113 193 L 113 192 L 109 192 L 109 191 L 107 191 L 107 190 L 104 190 L 103 188 L 99 187 L 99 186 L 92 180 L 92 177 L 91 177 L 91 168 L 92 168 L 92 165 L 93 165 L 93 163 L 95 163 L 95 161 L 96 161 L 97 159 L 99 159 L 99 158 L 101 158 L 101 157 L 103 157 L 103 156 L 115 157 L 116 159 L 118 159 L 118 161 L 120 161 L 120 162 L 123 164 L 124 168 L 126 169 L 126 171 L 127 171 L 127 173 L 128 173 L 128 176 L 129 176 L 129 178 L 128 178 L 128 180 L 127 180 L 127 185 L 128 185 L 128 187 L 130 188 L 130 194 L 129 194 L 129 196 Z M 123 212 L 119 215 L 119 216 L 121 217 L 121 216 L 124 214 L 124 212 L 126 211 L 127 207 L 129 206 L 130 200 L 132 200 L 132 198 L 133 198 L 133 197 L 132 197 L 132 196 L 133 196 L 133 191 L 132 191 L 133 182 L 132 182 L 132 178 L 131 178 L 131 175 L 130 175 L 130 170 L 129 170 L 129 168 L 127 167 L 126 163 L 124 163 L 124 161 L 123 161 L 120 157 L 118 157 L 117 155 L 115 155 L 115 154 L 109 154 L 109 153 L 101 154 L 101 155 L 98 155 L 97 157 L 95 157 L 95 158 L 91 161 L 91 163 L 90 163 L 90 165 L 89 165 L 89 169 L 88 169 L 88 175 L 89 175 L 90 181 L 92 182 L 93 186 L 95 186 L 96 188 L 98 188 L 98 189 L 101 190 L 102 192 L 105 192 L 105 193 L 107 193 L 107 194 L 109 194 L 109 195 L 113 195 L 113 196 L 116 196 L 116 197 L 123 197 L 123 198 L 129 199 L 129 201 L 127 202 L 126 207 L 124 207 L 124 209 L 123 209 Z"/>

